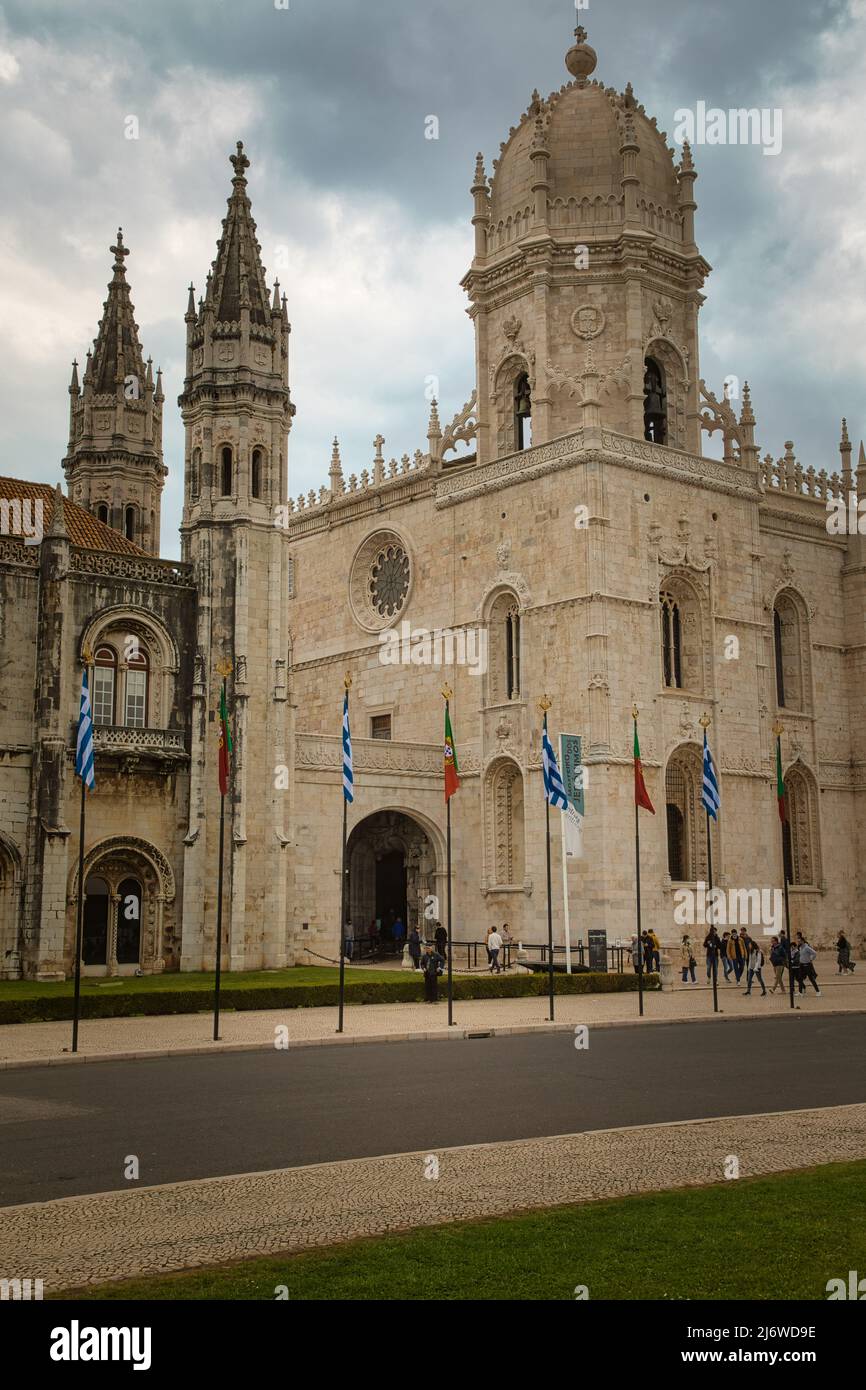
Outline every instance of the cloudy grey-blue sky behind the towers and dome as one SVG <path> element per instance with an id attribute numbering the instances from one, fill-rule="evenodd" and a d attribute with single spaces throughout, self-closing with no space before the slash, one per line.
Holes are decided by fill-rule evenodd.
<path id="1" fill-rule="evenodd" d="M 161 363 L 178 553 L 183 311 L 243 139 L 263 260 L 292 320 L 291 492 L 425 448 L 428 377 L 449 420 L 473 382 L 460 278 L 468 186 L 569 75 L 573 0 L 0 0 L 0 471 L 57 481 L 70 363 L 83 359 L 118 222 L 145 356 Z M 838 466 L 866 432 L 866 0 L 589 0 L 596 76 L 674 131 L 677 108 L 780 108 L 777 158 L 695 150 L 714 267 L 702 375 L 748 378 L 762 450 Z M 128 117 L 139 138 L 129 140 Z M 436 115 L 439 139 L 425 139 Z"/>

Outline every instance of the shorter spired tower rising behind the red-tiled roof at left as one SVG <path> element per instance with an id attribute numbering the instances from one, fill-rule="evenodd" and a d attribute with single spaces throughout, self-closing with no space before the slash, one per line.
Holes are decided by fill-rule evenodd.
<path id="1" fill-rule="evenodd" d="M 70 443 L 63 460 L 70 496 L 150 555 L 160 553 L 163 377 L 145 363 L 129 299 L 129 247 L 118 228 L 114 274 L 79 385 L 70 382 Z"/>

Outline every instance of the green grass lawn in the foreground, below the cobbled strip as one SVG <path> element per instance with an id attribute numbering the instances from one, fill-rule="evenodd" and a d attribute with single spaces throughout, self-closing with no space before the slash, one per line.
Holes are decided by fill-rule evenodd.
<path id="1" fill-rule="evenodd" d="M 421 1186 L 421 1184 L 418 1184 Z M 418 1194 L 423 1204 L 424 1194 Z M 60 1297 L 815 1300 L 866 1270 L 866 1162 L 373 1237 Z M 53 1295 L 57 1297 L 57 1295 Z"/>

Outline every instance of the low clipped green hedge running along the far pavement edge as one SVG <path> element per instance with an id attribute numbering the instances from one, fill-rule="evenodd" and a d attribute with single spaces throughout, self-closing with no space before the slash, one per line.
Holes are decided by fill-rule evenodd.
<path id="1" fill-rule="evenodd" d="M 646 987 L 657 988 L 657 976 L 645 976 Z M 445 980 L 439 984 L 443 987 Z M 556 994 L 623 994 L 638 987 L 637 974 L 555 974 Z M 441 994 L 443 991 L 441 990 Z M 455 999 L 517 999 L 548 992 L 548 977 L 542 974 L 514 976 L 457 976 L 453 981 Z M 82 1019 L 128 1019 L 154 1013 L 210 1013 L 213 995 L 202 990 L 154 990 L 149 994 L 83 994 Z M 414 1004 L 424 998 L 420 976 L 399 980 L 363 980 L 346 984 L 346 1004 Z M 336 984 L 260 986 L 254 990 L 225 988 L 220 991 L 221 1009 L 311 1009 L 336 1006 Z M 54 995 L 36 999 L 0 999 L 1 1023 L 44 1023 L 72 1017 L 72 998 Z"/>

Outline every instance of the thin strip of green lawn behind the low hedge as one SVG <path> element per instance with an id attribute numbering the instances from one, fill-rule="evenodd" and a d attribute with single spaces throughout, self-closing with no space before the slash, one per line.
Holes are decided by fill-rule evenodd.
<path id="1" fill-rule="evenodd" d="M 373 966 L 366 966 L 363 970 L 352 969 L 350 966 L 346 969 L 348 981 L 388 981 L 393 980 L 395 974 L 398 979 L 400 977 L 399 972 L 375 970 Z M 222 970 L 220 976 L 220 984 L 224 990 L 256 990 L 261 988 L 261 986 L 335 984 L 338 980 L 338 967 L 329 965 L 297 965 L 288 970 L 238 970 L 234 973 Z M 72 980 L 0 980 L 0 999 L 51 999 L 64 998 L 65 995 L 71 998 L 72 990 Z M 182 990 L 183 992 L 202 990 L 204 994 L 213 994 L 214 974 L 213 972 L 181 974 L 179 970 L 172 970 L 168 974 L 124 974 L 114 980 L 86 976 L 81 981 L 82 994 L 96 995 L 114 991 L 120 991 L 121 994 L 152 994 L 153 991 L 158 991 L 163 994 L 167 990 Z"/>

